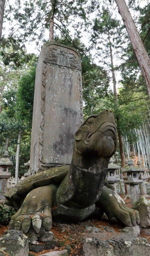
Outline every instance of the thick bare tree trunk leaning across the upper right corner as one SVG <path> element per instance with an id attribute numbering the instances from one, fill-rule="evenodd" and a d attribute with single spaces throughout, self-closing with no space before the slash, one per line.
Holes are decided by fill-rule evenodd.
<path id="1" fill-rule="evenodd" d="M 148 54 L 144 48 L 143 42 L 140 38 L 131 14 L 126 6 L 125 0 L 115 0 L 115 2 L 128 33 L 128 37 L 131 41 L 150 98 L 150 60 Z"/>

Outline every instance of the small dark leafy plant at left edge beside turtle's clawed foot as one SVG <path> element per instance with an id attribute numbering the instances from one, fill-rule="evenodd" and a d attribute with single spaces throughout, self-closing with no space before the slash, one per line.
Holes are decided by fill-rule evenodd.
<path id="1" fill-rule="evenodd" d="M 15 213 L 14 208 L 12 210 L 8 210 L 4 208 L 3 203 L 0 204 L 0 224 L 8 225 L 11 216 Z"/>

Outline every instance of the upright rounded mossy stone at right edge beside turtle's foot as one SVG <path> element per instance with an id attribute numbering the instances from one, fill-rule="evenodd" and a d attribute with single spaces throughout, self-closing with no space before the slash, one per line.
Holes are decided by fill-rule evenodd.
<path id="1" fill-rule="evenodd" d="M 150 200 L 140 197 L 133 205 L 133 209 L 138 210 L 141 227 L 150 227 Z"/>

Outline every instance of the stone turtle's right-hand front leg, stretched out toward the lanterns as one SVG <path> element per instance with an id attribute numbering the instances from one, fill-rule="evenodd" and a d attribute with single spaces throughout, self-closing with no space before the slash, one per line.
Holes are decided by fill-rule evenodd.
<path id="1" fill-rule="evenodd" d="M 112 189 L 103 186 L 99 200 L 95 203 L 103 209 L 108 219 L 125 226 L 139 224 L 139 213 L 125 205 L 123 199 Z"/>

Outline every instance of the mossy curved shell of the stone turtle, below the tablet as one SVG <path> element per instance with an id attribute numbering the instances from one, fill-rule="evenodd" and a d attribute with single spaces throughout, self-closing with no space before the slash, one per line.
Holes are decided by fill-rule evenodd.
<path id="1" fill-rule="evenodd" d="M 49 184 L 59 185 L 69 170 L 68 166 L 54 167 L 31 175 L 15 185 L 5 197 L 10 201 L 18 201 L 32 189 Z"/>

